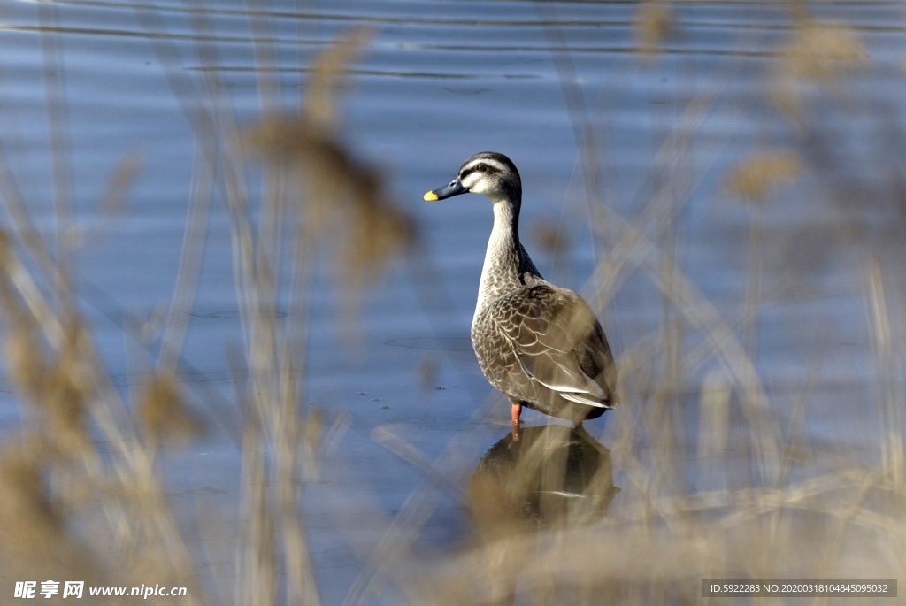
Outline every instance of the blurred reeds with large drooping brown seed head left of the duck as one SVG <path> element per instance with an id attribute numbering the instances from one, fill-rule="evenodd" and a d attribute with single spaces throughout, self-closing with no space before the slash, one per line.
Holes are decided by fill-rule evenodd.
<path id="1" fill-rule="evenodd" d="M 239 192 L 234 190 L 227 197 L 246 333 L 248 401 L 254 410 L 249 414 L 254 414 L 258 428 L 253 430 L 257 437 L 247 437 L 245 447 L 258 454 L 246 455 L 244 466 L 244 485 L 254 495 L 245 507 L 252 520 L 246 532 L 247 549 L 254 554 L 245 561 L 251 581 L 238 593 L 242 603 L 277 599 L 268 580 L 275 579 L 278 549 L 285 557 L 285 599 L 320 603 L 299 518 L 295 478 L 300 449 L 307 452 L 302 457 L 305 475 L 314 473 L 313 453 L 321 431 L 320 417 L 301 417 L 297 406 L 303 397 L 300 377 L 306 347 L 306 329 L 299 321 L 308 317 L 308 293 L 299 289 L 310 284 L 311 265 L 323 234 L 333 235 L 342 283 L 352 286 L 353 292 L 412 239 L 409 219 L 387 201 L 377 171 L 352 158 L 331 132 L 335 115 L 324 111 L 325 103 L 335 105 L 336 81 L 346 64 L 361 53 L 364 42 L 364 34 L 351 34 L 314 62 L 308 105 L 301 116 L 265 117 L 242 139 L 245 149 L 266 160 L 261 220 L 253 220 Z M 240 173 L 241 166 L 234 171 Z M 260 226 L 257 233 L 255 224 Z M 286 332 L 279 332 L 275 305 L 281 288 L 280 266 L 286 257 L 293 289 L 289 306 L 295 318 L 287 320 Z M 269 488 L 262 493 L 255 488 L 258 485 Z M 279 541 L 267 538 L 275 532 L 269 528 L 279 528 Z"/>

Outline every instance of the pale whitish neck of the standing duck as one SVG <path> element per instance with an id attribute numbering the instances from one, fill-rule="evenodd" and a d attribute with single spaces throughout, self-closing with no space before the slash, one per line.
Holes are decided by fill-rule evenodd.
<path id="1" fill-rule="evenodd" d="M 494 228 L 487 240 L 485 265 L 478 285 L 475 314 L 485 304 L 504 293 L 525 285 L 525 273 L 537 276 L 532 260 L 519 243 L 520 200 L 502 198 L 494 201 Z M 540 277 L 540 276 L 539 276 Z"/>

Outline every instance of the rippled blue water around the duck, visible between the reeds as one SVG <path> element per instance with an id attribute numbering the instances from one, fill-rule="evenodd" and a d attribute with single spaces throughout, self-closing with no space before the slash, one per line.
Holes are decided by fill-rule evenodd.
<path id="1" fill-rule="evenodd" d="M 606 255 L 589 233 L 577 162 L 575 120 L 583 109 L 600 160 L 596 197 L 615 216 L 638 222 L 661 252 L 675 253 L 691 284 L 737 327 L 747 284 L 747 229 L 755 211 L 729 199 L 723 179 L 728 168 L 756 149 L 796 144 L 789 122 L 771 104 L 768 86 L 771 53 L 792 31 L 785 6 L 680 3 L 674 6 L 678 26 L 666 52 L 648 60 L 635 52 L 637 5 L 628 3 L 284 2 L 263 9 L 276 41 L 273 67 L 287 109 L 304 92 L 305 68 L 315 53 L 352 26 L 372 28 L 368 53 L 354 65 L 342 94 L 342 139 L 359 159 L 381 168 L 392 197 L 414 217 L 428 254 L 420 261 L 395 261 L 365 293 L 361 340 L 354 347 L 344 344 L 337 326 L 342 315 L 335 303 L 342 290 L 332 284 L 326 267 L 315 282 L 301 405 L 323 410 L 336 434 L 319 479 L 305 486 L 304 505 L 325 603 L 342 601 L 370 546 L 424 481 L 418 468 L 375 443 L 375 428 L 392 429 L 427 461 L 439 457 L 452 439 L 464 440 L 461 473 L 508 431 L 502 399 L 490 405 L 489 413 L 474 414 L 492 390 L 468 345 L 490 206 L 479 197 L 426 205 L 422 193 L 448 182 L 477 151 L 506 153 L 523 176 L 522 225 L 535 263 L 557 284 L 584 289 L 590 300 L 600 301 L 586 285 Z M 843 106 L 852 101 L 858 115 L 839 129 L 854 155 L 870 158 L 873 139 L 856 126 L 877 121 L 866 109 L 869 101 L 886 103 L 885 120 L 894 130 L 902 126 L 900 5 L 811 6 L 818 18 L 853 24 L 871 54 L 872 71 L 850 81 L 842 93 Z M 7 1 L 0 14 L 0 145 L 36 226 L 48 235 L 54 221 L 42 36 L 58 43 L 62 53 L 66 151 L 75 224 L 84 239 L 73 256 L 77 288 L 114 383 L 124 392 L 136 382 L 125 354 L 124 318 L 145 318 L 167 305 L 178 272 L 195 147 L 180 102 L 196 99 L 207 69 L 193 47 L 189 7 Z M 245 8 L 227 1 L 205 8 L 237 120 L 252 125 L 261 108 Z M 161 49 L 172 51 L 175 59 L 162 61 Z M 574 81 L 569 72 L 555 69 L 555 58 L 568 61 Z M 174 91 L 168 74 L 189 88 Z M 581 91 L 583 108 L 567 106 L 564 84 L 566 91 Z M 688 120 L 684 111 L 693 99 L 704 100 L 705 109 Z M 683 133 L 680 153 L 657 156 L 677 131 Z M 140 174 L 125 212 L 105 218 L 98 210 L 105 184 L 129 154 L 140 158 Z M 868 173 L 860 171 L 871 180 Z M 883 181 L 886 173 L 880 173 L 875 177 Z M 677 234 L 670 244 L 662 226 L 644 218 L 652 191 L 668 181 L 675 184 L 670 195 Z M 778 237 L 766 246 L 771 276 L 766 289 L 779 294 L 760 316 L 758 369 L 783 417 L 823 335 L 830 347 L 809 423 L 816 435 L 834 438 L 847 410 L 843 400 L 852 399 L 846 394 L 864 393 L 874 377 L 860 294 L 865 254 L 872 249 L 857 239 L 843 252 L 817 255 L 792 281 L 784 282 L 782 271 L 795 253 L 796 229 L 807 231 L 819 219 L 841 216 L 833 200 L 825 198 L 833 198 L 827 183 L 806 172 L 771 199 L 767 226 Z M 538 226 L 563 230 L 569 242 L 563 254 L 554 258 L 545 252 L 535 236 Z M 620 235 L 614 233 L 611 243 Z M 794 235 L 792 244 L 779 237 L 789 235 Z M 212 411 L 196 403 L 207 418 L 207 435 L 171 461 L 165 477 L 178 511 L 192 515 L 198 505 L 224 516 L 226 528 L 236 532 L 229 524 L 238 497 L 236 430 L 230 426 L 233 417 L 217 412 L 217 406 L 233 406 L 224 351 L 242 336 L 221 200 L 212 206 L 204 246 L 183 359 L 191 369 L 187 382 L 203 385 L 207 392 L 202 393 L 220 405 Z M 410 263 L 421 263 L 430 278 L 414 273 Z M 791 284 L 807 286 L 808 292 L 791 295 Z M 425 305 L 421 291 L 442 296 Z M 660 293 L 641 273 L 622 279 L 618 292 L 600 294 L 607 305 L 599 316 L 618 356 L 656 331 L 664 317 Z M 687 330 L 691 341 L 700 342 L 696 327 Z M 437 368 L 428 383 L 426 364 Z M 695 381 L 714 366 L 705 361 L 693 370 L 690 389 L 696 390 Z M 0 434 L 9 435 L 20 410 L 8 381 L 2 390 Z M 631 407 L 633 395 L 624 401 Z M 871 442 L 877 419 L 845 414 L 847 439 Z M 529 424 L 545 422 L 531 411 L 525 418 Z M 605 419 L 588 428 L 607 443 Z M 466 533 L 461 501 L 445 495 L 422 538 L 426 549 L 443 548 Z M 234 573 L 228 564 L 211 570 L 223 580 Z"/>

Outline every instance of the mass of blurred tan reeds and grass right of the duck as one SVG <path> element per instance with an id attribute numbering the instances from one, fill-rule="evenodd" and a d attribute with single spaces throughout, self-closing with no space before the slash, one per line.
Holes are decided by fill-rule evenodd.
<path id="1" fill-rule="evenodd" d="M 548 24 L 556 23 L 553 7 L 537 6 Z M 812 126 L 803 120 L 811 111 L 808 103 L 824 97 L 824 87 L 835 93 L 843 90 L 845 76 L 864 71 L 868 55 L 848 28 L 809 20 L 798 3 L 791 3 L 791 8 L 796 21 L 769 79 L 773 101 L 792 128 L 802 133 L 799 140 L 807 148 L 816 140 L 803 132 Z M 668 36 L 681 34 L 681 27 L 672 21 L 670 3 L 644 3 L 638 19 L 640 47 L 645 63 L 651 64 L 652 55 L 660 53 Z M 564 48 L 562 35 L 554 32 L 548 36 L 549 43 L 552 40 L 560 42 L 551 43 L 552 49 Z M 606 140 L 609 133 L 589 126 L 584 103 L 576 101 L 581 94 L 573 90 L 568 55 L 563 50 L 552 52 L 559 55 L 554 64 L 579 140 L 577 172 L 602 169 L 616 174 L 615 166 L 606 166 L 616 156 L 614 150 L 596 150 L 595 159 L 589 161 L 587 150 L 596 149 L 589 138 Z M 896 578 L 904 569 L 906 526 L 899 513 L 906 497 L 903 393 L 898 379 L 902 352 L 896 351 L 888 312 L 892 291 L 877 258 L 864 264 L 877 398 L 872 400 L 868 390 L 860 391 L 856 401 L 834 401 L 845 416 L 839 419 L 841 428 L 850 416 L 872 414 L 872 409 L 878 415 L 874 462 L 865 462 L 863 448 L 850 442 L 845 431 L 836 438 L 814 437 L 813 444 L 805 430 L 826 335 L 819 333 L 815 340 L 813 360 L 789 413 L 780 410 L 779 398 L 769 396 L 757 370 L 759 316 L 772 302 L 770 285 L 775 284 L 766 274 L 766 255 L 768 246 L 777 245 L 781 237 L 767 227 L 770 198 L 801 172 L 822 168 L 803 159 L 809 150 L 768 150 L 744 160 L 728 175 L 728 196 L 751 204 L 747 284 L 737 325 L 679 265 L 681 233 L 676 219 L 718 157 L 711 154 L 709 162 L 696 166 L 688 158 L 689 146 L 703 117 L 731 86 L 727 76 L 737 71 L 734 62 L 738 59 L 731 56 L 718 64 L 705 85 L 699 84 L 703 91 L 677 111 L 679 119 L 664 134 L 652 162 L 653 194 L 637 219 L 621 216 L 618 199 L 603 200 L 599 192 L 588 192 L 597 187 L 598 178 L 583 174 L 594 205 L 589 216 L 602 250 L 586 290 L 597 293 L 603 312 L 622 284 L 641 272 L 660 290 L 663 302 L 660 325 L 641 338 L 627 341 L 629 335 L 620 328 L 619 303 L 608 322 L 624 341 L 618 391 L 625 405 L 608 413 L 615 416 L 605 434 L 616 473 L 625 483 L 619 500 L 606 518 L 593 524 L 486 535 L 483 549 L 441 566 L 447 582 L 421 603 L 502 604 L 514 597 L 518 603 L 536 604 L 698 603 L 699 583 L 708 578 L 877 579 Z M 652 123 L 657 121 L 652 116 Z M 598 159 L 605 166 L 599 168 Z M 878 188 L 871 193 L 885 192 Z M 892 199 L 886 206 L 889 219 L 902 226 L 897 204 Z M 849 211 L 858 215 L 860 209 Z M 845 245 L 845 240 L 837 245 Z M 801 286 L 809 280 L 808 267 L 800 271 Z M 851 285 L 856 290 L 861 286 Z M 902 309 L 902 303 L 898 300 L 896 308 Z M 698 389 L 689 384 L 695 377 L 703 377 Z M 689 397 L 696 391 L 697 409 Z M 689 433 L 694 418 L 696 430 Z M 480 524 L 481 512 L 493 511 L 494 497 L 473 497 L 478 499 Z M 504 577 L 511 584 L 502 588 L 495 579 Z M 490 584 L 477 582 L 481 579 Z"/>

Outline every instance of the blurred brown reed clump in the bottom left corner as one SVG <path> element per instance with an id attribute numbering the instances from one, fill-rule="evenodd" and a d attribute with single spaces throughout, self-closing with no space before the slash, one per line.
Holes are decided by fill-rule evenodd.
<path id="1" fill-rule="evenodd" d="M 88 557 L 77 555 L 73 546 L 49 559 L 55 562 L 54 574 L 84 571 L 86 581 L 92 582 L 119 574 L 120 579 L 134 581 L 150 571 L 160 582 L 194 588 L 186 572 L 188 553 L 154 468 L 155 448 L 137 433 L 94 351 L 89 330 L 65 304 L 70 294 L 59 289 L 68 288 L 69 279 L 54 281 L 55 272 L 51 276 L 34 275 L 18 255 L 19 245 L 13 237 L 3 235 L 0 311 L 11 336 L 6 341 L 5 357 L 14 383 L 35 412 L 29 439 L 34 444 L 32 452 L 43 455 L 30 456 L 29 473 L 34 481 L 48 483 L 49 494 L 42 498 L 58 504 L 55 506 L 61 512 L 57 523 L 61 536 L 46 542 L 19 543 L 30 545 L 20 559 L 34 562 L 26 555 L 31 551 L 40 562 L 39 554 L 48 545 L 88 543 Z M 34 240 L 30 250 L 39 257 L 48 255 Z M 51 284 L 55 296 L 45 294 L 39 284 Z M 177 408 L 167 408 L 172 418 Z M 90 426 L 120 449 L 101 457 L 92 442 Z M 7 495 L 14 498 L 15 490 L 11 486 Z M 40 528 L 36 521 L 22 517 L 22 512 L 15 507 L 6 510 L 3 524 Z M 101 518 L 101 524 L 96 526 L 97 532 L 71 537 L 69 518 L 82 515 L 92 526 L 97 518 Z M 41 564 L 34 570 L 45 568 Z M 26 576 L 30 574 L 34 572 Z M 187 603 L 203 601 L 196 596 Z"/>

